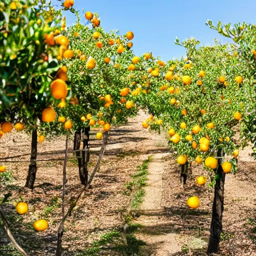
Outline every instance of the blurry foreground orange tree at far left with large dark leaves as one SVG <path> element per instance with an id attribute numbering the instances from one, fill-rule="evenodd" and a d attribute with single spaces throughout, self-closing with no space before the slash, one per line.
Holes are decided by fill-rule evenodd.
<path id="1" fill-rule="evenodd" d="M 45 0 L 6 0 L 0 4 L 0 136 L 11 131 L 12 124 L 16 130 L 25 127 L 31 132 L 25 184 L 29 188 L 35 180 L 40 122 L 55 118 L 51 105 L 59 89 L 50 84 L 59 69 L 59 45 L 68 43 L 58 35 L 61 30 L 61 10 L 54 10 Z M 66 84 L 62 85 L 66 90 Z"/>

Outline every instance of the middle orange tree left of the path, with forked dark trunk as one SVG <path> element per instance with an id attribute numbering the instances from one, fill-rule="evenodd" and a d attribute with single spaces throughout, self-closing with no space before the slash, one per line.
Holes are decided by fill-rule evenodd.
<path id="1" fill-rule="evenodd" d="M 70 95 L 61 99 L 57 115 L 59 122 L 69 121 L 74 130 L 74 150 L 78 157 L 79 177 L 86 185 L 88 171 L 88 140 L 91 127 L 107 132 L 111 125 L 124 123 L 128 116 L 137 113 L 138 97 L 132 95 L 129 77 L 139 70 L 139 59 L 134 58 L 133 33 L 119 35 L 117 31 L 105 32 L 99 25 L 97 13 L 85 13 L 85 25 L 78 17 L 65 35 L 69 39 L 68 49 L 72 56 L 64 58 Z M 102 132 L 96 134 L 102 138 Z M 80 150 L 83 134 L 83 149 Z"/>

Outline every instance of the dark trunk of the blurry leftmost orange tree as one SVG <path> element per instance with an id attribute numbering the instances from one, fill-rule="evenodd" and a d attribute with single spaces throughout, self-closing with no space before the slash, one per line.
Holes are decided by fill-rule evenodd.
<path id="1" fill-rule="evenodd" d="M 33 189 L 35 174 L 36 174 L 36 156 L 37 156 L 37 132 L 36 128 L 32 130 L 32 141 L 31 141 L 31 154 L 30 154 L 30 164 L 28 168 L 28 173 L 26 177 L 25 186 Z"/>

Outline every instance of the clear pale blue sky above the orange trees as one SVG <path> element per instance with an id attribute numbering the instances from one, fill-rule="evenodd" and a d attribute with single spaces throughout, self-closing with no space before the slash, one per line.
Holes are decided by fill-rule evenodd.
<path id="1" fill-rule="evenodd" d="M 136 55 L 152 51 L 165 61 L 185 55 L 183 47 L 174 45 L 175 36 L 180 41 L 194 36 L 202 44 L 211 44 L 213 38 L 226 41 L 205 25 L 206 18 L 214 24 L 218 20 L 256 22 L 256 0 L 74 0 L 74 8 L 84 21 L 82 8 L 97 12 L 105 31 L 119 29 L 124 34 L 131 30 Z M 68 14 L 67 26 L 74 22 Z"/>

